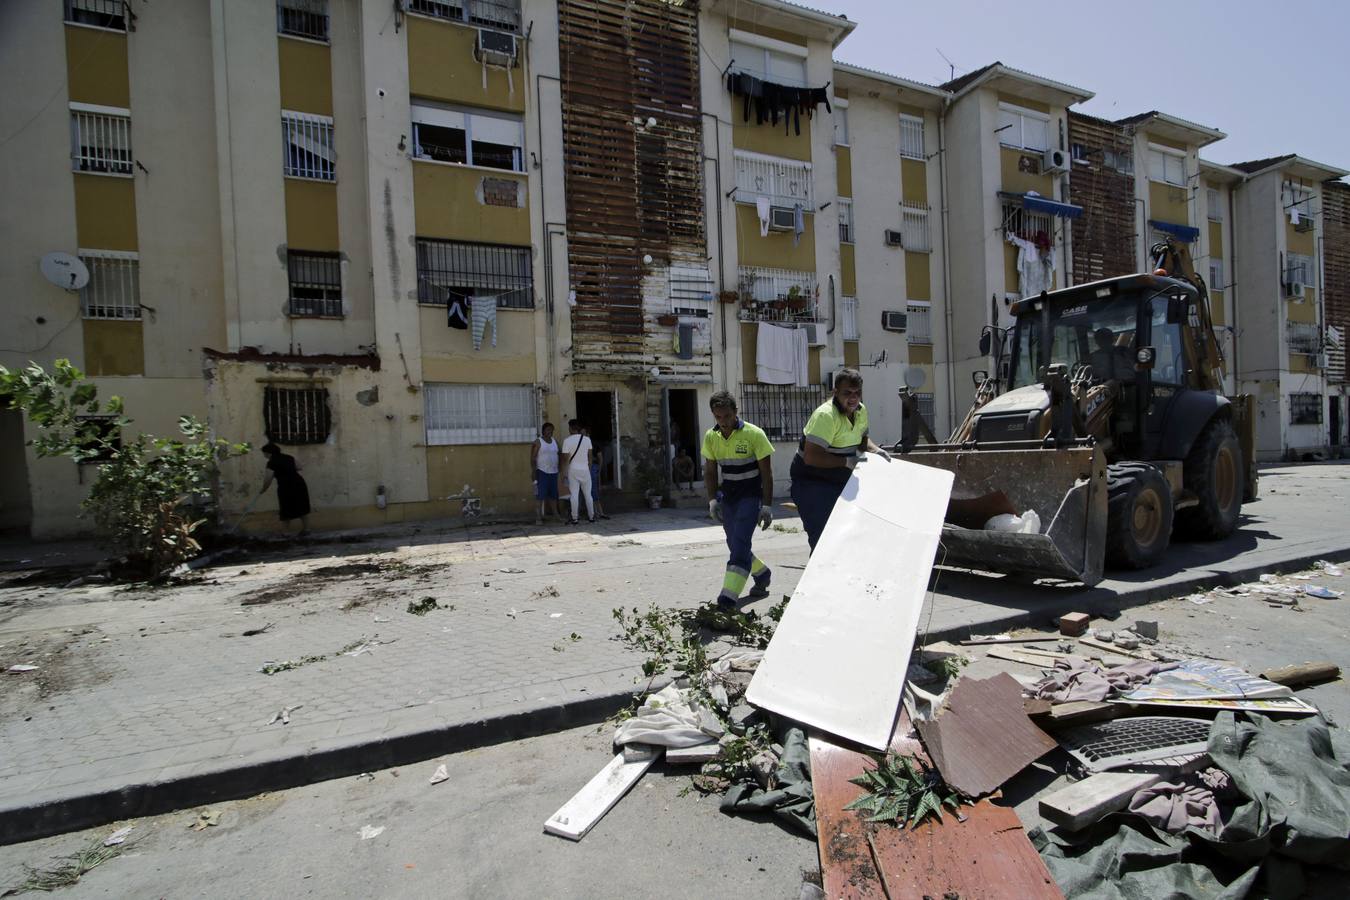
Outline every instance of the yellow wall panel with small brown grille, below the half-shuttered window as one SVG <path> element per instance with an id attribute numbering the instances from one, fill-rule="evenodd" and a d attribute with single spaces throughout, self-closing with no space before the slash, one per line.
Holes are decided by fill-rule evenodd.
<path id="1" fill-rule="evenodd" d="M 525 181 L 509 171 L 489 173 L 446 163 L 413 161 L 413 206 L 417 235 L 489 244 L 529 244 L 528 206 L 489 206 L 478 202 L 483 178 Z M 759 229 L 759 220 L 755 228 Z M 807 220 L 810 231 L 810 220 Z M 756 235 L 759 231 L 755 232 Z M 805 242 L 803 242 L 805 243 Z"/>

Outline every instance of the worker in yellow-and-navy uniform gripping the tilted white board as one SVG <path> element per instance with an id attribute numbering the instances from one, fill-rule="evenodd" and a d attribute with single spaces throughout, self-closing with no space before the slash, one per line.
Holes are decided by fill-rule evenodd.
<path id="1" fill-rule="evenodd" d="M 815 552 L 815 542 L 821 540 L 853 467 L 865 459 L 864 453 L 891 459 L 872 443 L 867 429 L 863 375 L 856 368 L 841 368 L 834 375 L 834 395 L 806 420 L 790 470 L 792 502 L 802 517 L 811 552 Z"/>

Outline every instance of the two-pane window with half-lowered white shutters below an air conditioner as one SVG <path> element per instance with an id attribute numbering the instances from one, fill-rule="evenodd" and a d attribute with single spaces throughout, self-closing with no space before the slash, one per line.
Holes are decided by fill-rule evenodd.
<path id="1" fill-rule="evenodd" d="M 525 171 L 520 116 L 413 101 L 413 155 L 418 159 Z"/>

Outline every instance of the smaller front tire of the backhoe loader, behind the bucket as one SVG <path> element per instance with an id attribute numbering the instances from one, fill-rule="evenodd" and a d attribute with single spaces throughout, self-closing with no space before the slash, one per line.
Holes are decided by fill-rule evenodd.
<path id="1" fill-rule="evenodd" d="M 1172 488 L 1146 463 L 1107 467 L 1106 561 L 1112 568 L 1153 565 L 1172 542 Z"/>

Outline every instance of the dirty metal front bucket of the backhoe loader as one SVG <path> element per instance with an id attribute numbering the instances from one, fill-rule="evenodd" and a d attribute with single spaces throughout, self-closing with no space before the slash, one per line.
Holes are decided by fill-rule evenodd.
<path id="1" fill-rule="evenodd" d="M 1048 449 L 1027 441 L 1008 447 L 937 444 L 906 453 L 913 463 L 956 475 L 942 528 L 945 563 L 1096 584 L 1106 552 L 1106 455 L 1089 445 Z M 992 515 L 1026 510 L 1041 517 L 1040 534 L 983 528 Z M 941 553 L 938 561 L 944 561 Z"/>

